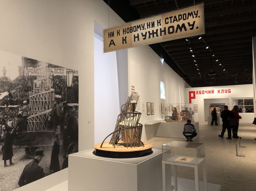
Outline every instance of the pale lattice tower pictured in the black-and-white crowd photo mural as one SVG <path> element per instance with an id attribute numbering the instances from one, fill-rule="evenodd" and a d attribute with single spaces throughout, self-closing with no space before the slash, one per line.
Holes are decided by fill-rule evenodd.
<path id="1" fill-rule="evenodd" d="M 44 123 L 47 113 L 51 112 L 54 101 L 54 89 L 52 89 L 52 76 L 48 63 L 39 63 L 37 66 L 37 80 L 33 82 L 33 95 L 30 96 L 30 116 L 28 131 L 45 131 Z"/>

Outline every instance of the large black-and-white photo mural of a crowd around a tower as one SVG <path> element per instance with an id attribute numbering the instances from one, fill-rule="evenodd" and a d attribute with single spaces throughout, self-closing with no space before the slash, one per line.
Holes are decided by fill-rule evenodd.
<path id="1" fill-rule="evenodd" d="M 78 152 L 78 71 L 0 51 L 0 190 L 68 167 Z"/>

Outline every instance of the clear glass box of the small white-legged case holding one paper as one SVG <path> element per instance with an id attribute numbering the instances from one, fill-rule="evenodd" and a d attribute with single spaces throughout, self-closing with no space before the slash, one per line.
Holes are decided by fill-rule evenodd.
<path id="1" fill-rule="evenodd" d="M 171 141 L 162 145 L 162 157 L 166 162 L 198 165 L 205 158 L 204 143 Z"/>

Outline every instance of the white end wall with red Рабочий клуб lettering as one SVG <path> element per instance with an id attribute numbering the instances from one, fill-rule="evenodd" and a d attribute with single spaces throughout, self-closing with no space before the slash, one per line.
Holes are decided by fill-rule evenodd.
<path id="1" fill-rule="evenodd" d="M 230 93 L 228 93 L 228 89 L 230 89 Z M 202 91 L 214 91 L 214 93 L 210 94 L 202 94 Z M 218 90 L 220 90 L 218 93 Z M 223 90 L 223 91 L 222 91 Z M 225 90 L 227 90 L 227 93 L 225 93 Z M 228 98 L 229 103 L 226 103 L 229 107 L 229 109 L 233 108 L 233 98 L 253 98 L 253 85 L 252 84 L 244 84 L 244 85 L 234 85 L 234 86 L 212 86 L 212 87 L 197 87 L 197 88 L 185 88 L 186 91 L 186 102 L 189 102 L 189 92 L 198 91 L 198 94 L 195 95 L 195 99 L 192 99 L 192 103 L 198 104 L 198 120 L 204 121 L 204 119 L 207 119 L 207 116 L 204 116 L 204 99 L 219 99 L 219 98 Z M 199 91 L 201 91 L 201 94 L 199 94 Z M 242 119 L 240 122 L 252 122 L 254 118 L 253 113 L 240 113 L 239 115 L 242 116 Z"/>

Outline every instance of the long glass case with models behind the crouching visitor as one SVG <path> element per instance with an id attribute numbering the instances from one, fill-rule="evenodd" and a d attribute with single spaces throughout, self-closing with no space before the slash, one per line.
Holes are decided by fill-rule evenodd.
<path id="1" fill-rule="evenodd" d="M 197 104 L 161 104 L 162 121 L 166 122 L 191 122 L 194 114 L 198 112 Z"/>

